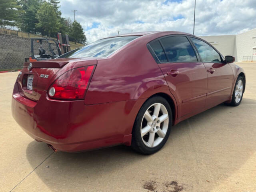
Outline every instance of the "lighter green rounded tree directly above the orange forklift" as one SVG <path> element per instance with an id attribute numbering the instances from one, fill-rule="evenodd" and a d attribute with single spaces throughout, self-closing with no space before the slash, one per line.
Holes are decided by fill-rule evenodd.
<path id="1" fill-rule="evenodd" d="M 37 11 L 36 18 L 38 19 L 36 27 L 42 30 L 42 35 L 56 36 L 60 28 L 60 21 L 54 6 L 44 2 Z"/>

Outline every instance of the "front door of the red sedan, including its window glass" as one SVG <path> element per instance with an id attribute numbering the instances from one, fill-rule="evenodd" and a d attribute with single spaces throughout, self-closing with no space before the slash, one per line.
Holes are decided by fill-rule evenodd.
<path id="1" fill-rule="evenodd" d="M 221 55 L 208 43 L 190 37 L 198 50 L 207 70 L 207 97 L 205 108 L 211 108 L 230 99 L 233 72 L 229 64 L 223 62 Z"/>

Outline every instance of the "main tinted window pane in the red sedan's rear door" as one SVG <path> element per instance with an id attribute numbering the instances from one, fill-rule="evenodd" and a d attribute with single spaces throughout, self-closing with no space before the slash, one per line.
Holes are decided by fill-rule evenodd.
<path id="1" fill-rule="evenodd" d="M 193 47 L 185 36 L 171 36 L 160 40 L 169 62 L 197 62 Z"/>

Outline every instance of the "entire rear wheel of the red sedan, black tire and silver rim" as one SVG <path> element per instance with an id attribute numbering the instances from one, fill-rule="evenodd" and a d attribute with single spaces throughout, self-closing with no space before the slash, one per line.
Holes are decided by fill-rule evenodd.
<path id="1" fill-rule="evenodd" d="M 160 96 L 149 98 L 134 122 L 132 148 L 142 154 L 159 151 L 170 135 L 171 126 L 172 110 L 166 99 Z"/>

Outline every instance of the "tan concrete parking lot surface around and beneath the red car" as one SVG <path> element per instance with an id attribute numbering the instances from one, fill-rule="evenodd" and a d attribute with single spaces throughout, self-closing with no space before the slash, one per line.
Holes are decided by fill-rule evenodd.
<path id="1" fill-rule="evenodd" d="M 0 191 L 256 192 L 256 64 L 238 65 L 246 72 L 240 106 L 180 122 L 149 156 L 127 146 L 53 153 L 12 118 L 18 72 L 0 74 Z"/>

